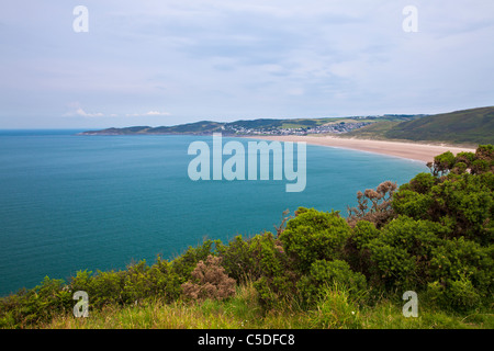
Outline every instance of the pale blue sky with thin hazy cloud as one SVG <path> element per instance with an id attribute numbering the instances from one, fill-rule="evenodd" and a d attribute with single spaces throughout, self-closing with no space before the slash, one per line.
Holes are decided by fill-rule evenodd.
<path id="1" fill-rule="evenodd" d="M 0 7 L 0 128 L 494 105 L 492 0 L 2 0 Z"/>

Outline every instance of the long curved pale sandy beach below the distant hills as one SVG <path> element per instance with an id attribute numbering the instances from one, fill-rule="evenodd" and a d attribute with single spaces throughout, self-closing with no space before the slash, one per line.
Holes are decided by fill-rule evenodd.
<path id="1" fill-rule="evenodd" d="M 312 145 L 330 146 L 346 149 L 353 149 L 367 152 L 395 156 L 423 162 L 434 160 L 434 157 L 446 151 L 457 155 L 460 151 L 475 152 L 475 149 L 465 147 L 452 147 L 446 145 L 428 145 L 418 143 L 401 143 L 385 140 L 367 139 L 345 139 L 332 136 L 252 136 L 251 138 L 279 141 L 306 141 Z"/>

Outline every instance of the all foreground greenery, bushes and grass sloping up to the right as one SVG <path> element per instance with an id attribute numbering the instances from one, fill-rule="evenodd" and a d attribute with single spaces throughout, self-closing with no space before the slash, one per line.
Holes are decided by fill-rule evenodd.
<path id="1" fill-rule="evenodd" d="M 494 328 L 494 146 L 445 152 L 339 212 L 204 240 L 171 261 L 46 278 L 0 301 L 2 328 Z M 72 294 L 89 295 L 89 318 Z M 418 296 L 405 317 L 403 293 Z"/>

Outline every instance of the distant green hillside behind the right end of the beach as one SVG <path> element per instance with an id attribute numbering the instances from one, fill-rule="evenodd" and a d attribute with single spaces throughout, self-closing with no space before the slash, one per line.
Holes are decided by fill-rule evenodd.
<path id="1" fill-rule="evenodd" d="M 494 107 L 456 111 L 400 123 L 382 121 L 346 136 L 465 145 L 494 144 Z"/>

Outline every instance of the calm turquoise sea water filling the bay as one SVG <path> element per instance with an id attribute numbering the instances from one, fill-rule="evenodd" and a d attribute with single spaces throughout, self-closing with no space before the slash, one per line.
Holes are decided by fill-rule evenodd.
<path id="1" fill-rule="evenodd" d="M 45 275 L 171 259 L 204 237 L 274 230 L 287 208 L 347 215 L 357 191 L 427 171 L 417 161 L 307 145 L 306 188 L 287 193 L 285 180 L 190 180 L 188 147 L 211 137 L 76 132 L 0 131 L 0 295 Z"/>

